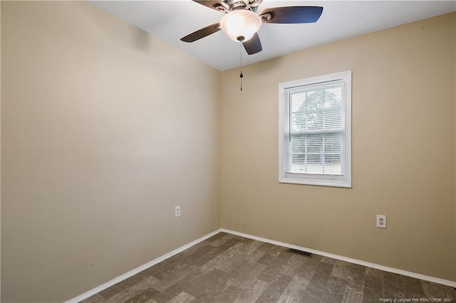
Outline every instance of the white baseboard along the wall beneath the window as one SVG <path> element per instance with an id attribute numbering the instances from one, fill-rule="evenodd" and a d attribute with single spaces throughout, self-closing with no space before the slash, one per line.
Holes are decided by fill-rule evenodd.
<path id="1" fill-rule="evenodd" d="M 375 268 L 375 269 L 378 269 L 378 270 L 384 270 L 385 272 L 393 272 L 393 273 L 399 274 L 399 275 L 405 275 L 405 276 L 408 276 L 408 277 L 414 277 L 414 278 L 417 278 L 417 279 L 420 279 L 420 280 L 434 282 L 434 283 L 438 283 L 438 284 L 441 284 L 441 285 L 447 285 L 447 286 L 450 286 L 450 287 L 456 287 L 456 282 L 455 281 L 440 279 L 440 278 L 437 278 L 437 277 L 430 277 L 430 276 L 427 276 L 427 275 L 421 275 L 421 274 L 417 274 L 415 272 L 408 272 L 406 270 L 398 270 L 397 268 L 393 268 L 393 267 L 378 265 L 378 264 L 371 263 L 371 262 L 365 262 L 365 261 L 362 261 L 362 260 L 353 259 L 351 257 L 343 257 L 341 255 L 333 255 L 332 253 L 322 252 L 320 250 L 313 250 L 311 248 L 304 248 L 302 246 L 292 245 L 292 244 L 283 243 L 283 242 L 279 242 L 279 241 L 275 241 L 275 240 L 269 240 L 269 239 L 266 239 L 266 238 L 257 237 L 256 235 L 249 235 L 247 233 L 239 233 L 239 232 L 234 231 L 234 230 L 228 230 L 228 229 L 221 228 L 220 231 L 222 231 L 224 233 L 231 233 L 233 235 L 239 235 L 239 236 L 244 237 L 244 238 L 249 238 L 249 239 L 259 240 L 259 241 L 266 242 L 266 243 L 271 243 L 271 244 L 274 244 L 274 245 L 284 246 L 285 248 L 294 248 L 296 250 L 304 250 L 306 252 L 311 252 L 311 253 L 314 253 L 316 255 L 323 255 L 324 257 L 332 257 L 333 259 L 336 259 L 336 260 L 351 262 L 351 263 L 354 263 L 354 264 L 363 265 L 363 266 Z"/>

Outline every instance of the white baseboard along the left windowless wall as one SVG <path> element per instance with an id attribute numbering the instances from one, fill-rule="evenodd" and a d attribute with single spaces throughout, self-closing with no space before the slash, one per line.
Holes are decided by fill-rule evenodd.
<path id="1" fill-rule="evenodd" d="M 91 297 L 94 294 L 98 294 L 98 292 L 101 292 L 102 290 L 107 289 L 108 287 L 111 287 L 111 286 L 117 284 L 118 282 L 122 282 L 123 280 L 126 280 L 129 277 L 136 275 L 136 274 L 138 274 L 138 272 L 142 272 L 142 270 L 147 270 L 147 268 L 149 268 L 157 263 L 160 263 L 160 262 L 166 260 L 167 258 L 172 257 L 173 255 L 177 255 L 179 252 L 182 252 L 183 250 L 186 250 L 187 248 L 191 248 L 193 245 L 198 244 L 199 242 L 202 242 L 202 241 L 206 240 L 207 238 L 211 238 L 213 235 L 217 235 L 217 233 L 219 233 L 220 231 L 221 230 L 214 230 L 212 233 L 204 235 L 203 237 L 201 237 L 195 241 L 192 241 L 186 245 L 181 246 L 180 248 L 172 250 L 172 252 L 168 252 L 167 254 L 162 255 L 161 257 L 157 257 L 156 259 L 154 259 L 150 262 L 147 262 L 144 265 L 140 265 L 139 267 L 136 267 L 134 270 L 125 272 L 125 274 L 115 277 L 113 280 L 110 280 L 109 282 L 106 282 L 103 285 L 90 289 L 88 292 L 84 292 L 83 294 L 80 294 L 78 297 L 69 299 L 68 301 L 66 301 L 66 303 L 81 302 L 83 299 L 87 299 L 88 297 Z"/>

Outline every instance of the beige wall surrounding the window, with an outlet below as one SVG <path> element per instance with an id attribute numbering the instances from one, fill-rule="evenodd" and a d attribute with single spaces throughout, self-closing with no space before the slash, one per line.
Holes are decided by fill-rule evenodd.
<path id="1" fill-rule="evenodd" d="M 455 281 L 455 18 L 222 73 L 222 228 Z M 353 188 L 279 184 L 278 84 L 344 70 Z"/>

